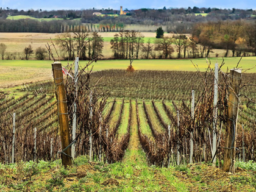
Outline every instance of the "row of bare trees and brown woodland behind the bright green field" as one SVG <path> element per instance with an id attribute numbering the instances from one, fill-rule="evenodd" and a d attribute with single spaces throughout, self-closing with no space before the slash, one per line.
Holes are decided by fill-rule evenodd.
<path id="1" fill-rule="evenodd" d="M 161 32 L 161 34 L 158 34 Z M 135 30 L 121 30 L 110 40 L 112 57 L 109 59 L 171 59 L 174 51 L 177 58 L 209 57 L 213 49 L 224 49 L 224 57 L 255 56 L 256 55 L 256 22 L 218 21 L 197 24 L 190 35 L 163 34 L 162 27 L 157 29 L 154 41 L 144 40 L 144 36 Z M 160 38 L 159 38 L 160 37 Z M 56 44 L 62 50 L 62 59 L 73 60 L 76 55 L 80 59 L 101 59 L 104 39 L 98 32 L 88 32 L 87 28 L 77 26 L 73 32 L 57 36 Z M 2 59 L 29 59 L 30 49 L 24 49 L 23 54 L 6 52 L 7 46 L 0 44 Z M 31 48 L 32 49 L 32 48 Z M 36 50 L 37 59 L 48 59 L 50 55 L 44 48 Z M 218 53 L 215 55 L 218 57 Z"/>

